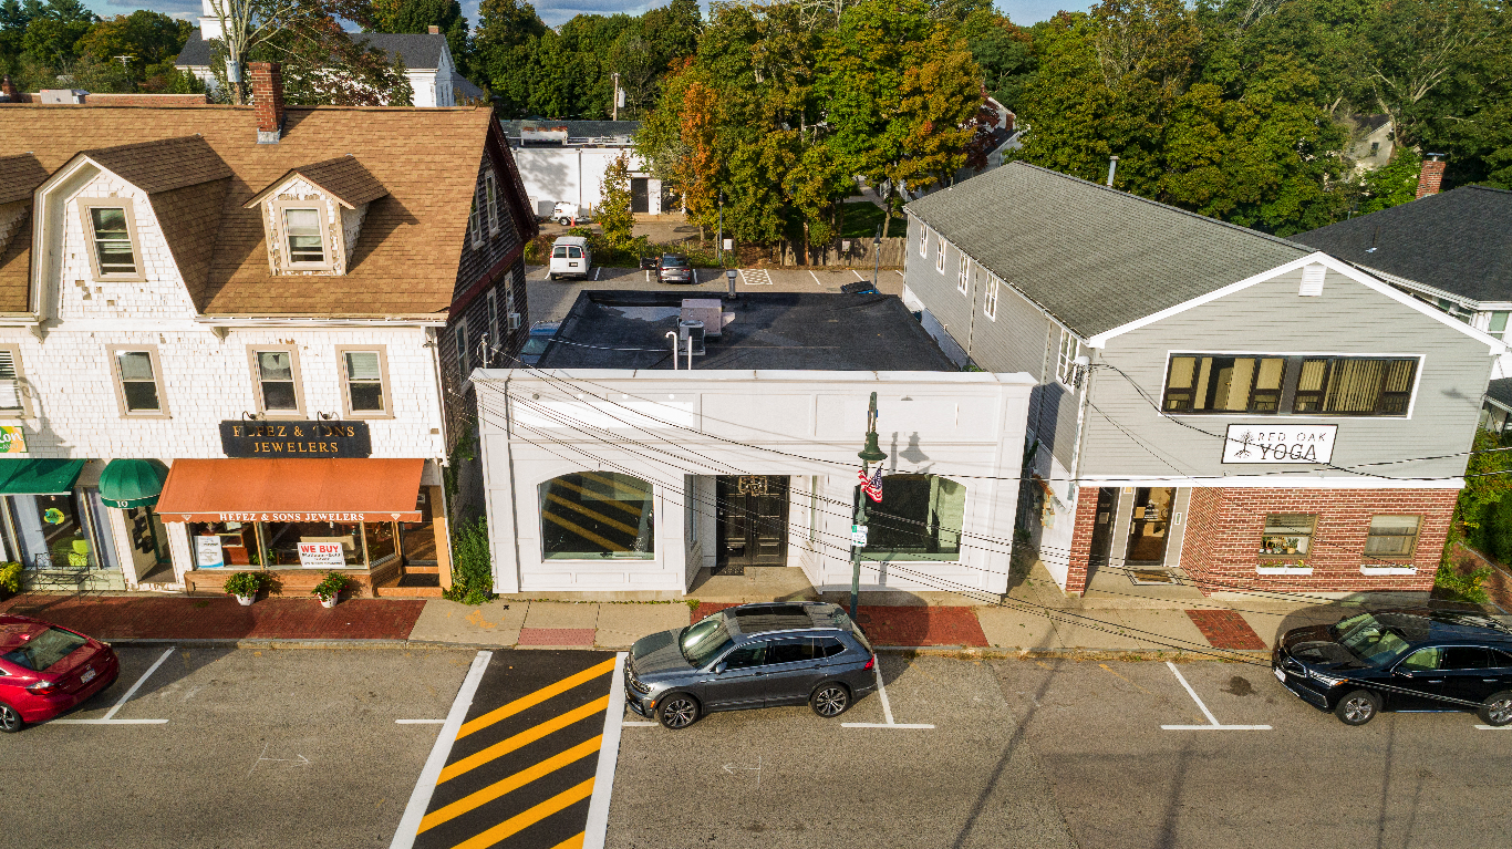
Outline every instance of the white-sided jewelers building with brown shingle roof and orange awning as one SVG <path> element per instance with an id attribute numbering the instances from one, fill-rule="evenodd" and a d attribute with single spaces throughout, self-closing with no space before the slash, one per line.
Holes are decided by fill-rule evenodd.
<path id="1" fill-rule="evenodd" d="M 449 578 L 458 360 L 526 324 L 503 135 L 253 74 L 251 107 L 0 104 L 0 540 L 32 578 Z"/>

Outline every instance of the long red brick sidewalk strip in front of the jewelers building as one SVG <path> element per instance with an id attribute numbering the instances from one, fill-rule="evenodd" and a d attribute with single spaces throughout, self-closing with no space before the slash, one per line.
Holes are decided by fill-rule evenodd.
<path id="1" fill-rule="evenodd" d="M 327 610 L 314 598 L 80 598 L 20 595 L 0 613 L 35 616 L 103 640 L 321 639 L 404 640 L 423 599 L 346 599 Z"/>

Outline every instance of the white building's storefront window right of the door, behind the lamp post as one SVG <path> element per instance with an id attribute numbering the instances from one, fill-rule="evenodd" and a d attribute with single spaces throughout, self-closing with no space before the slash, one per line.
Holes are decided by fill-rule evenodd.
<path id="1" fill-rule="evenodd" d="M 939 475 L 886 475 L 868 505 L 868 560 L 959 560 L 966 487 Z M 857 498 L 865 498 L 860 487 Z"/>

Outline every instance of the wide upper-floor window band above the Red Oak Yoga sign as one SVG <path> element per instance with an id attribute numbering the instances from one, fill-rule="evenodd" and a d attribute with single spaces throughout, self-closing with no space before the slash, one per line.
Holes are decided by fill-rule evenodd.
<path id="1" fill-rule="evenodd" d="M 1417 357 L 1173 354 L 1167 413 L 1405 416 Z"/>

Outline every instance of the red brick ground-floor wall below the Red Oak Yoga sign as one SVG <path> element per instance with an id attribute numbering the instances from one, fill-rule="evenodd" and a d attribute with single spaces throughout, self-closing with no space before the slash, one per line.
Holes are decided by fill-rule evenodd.
<path id="1" fill-rule="evenodd" d="M 1181 568 L 1205 593 L 1228 590 L 1291 592 L 1427 592 L 1433 587 L 1444 539 L 1455 510 L 1455 489 L 1217 489 L 1191 490 Z M 1270 513 L 1317 516 L 1311 575 L 1259 575 L 1276 560 L 1259 555 Z M 1371 516 L 1421 516 L 1411 558 L 1365 555 Z M 1084 558 L 1086 555 L 1083 555 Z M 1303 561 L 1302 558 L 1285 558 Z M 1368 575 L 1367 568 L 1415 568 L 1412 575 Z"/>

